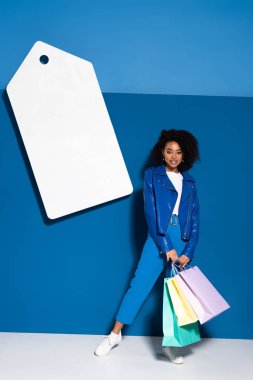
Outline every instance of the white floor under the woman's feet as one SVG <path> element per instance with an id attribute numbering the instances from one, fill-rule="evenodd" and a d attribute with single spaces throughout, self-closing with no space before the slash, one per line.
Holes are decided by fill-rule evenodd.
<path id="1" fill-rule="evenodd" d="M 93 351 L 103 335 L 0 333 L 1 380 L 248 380 L 253 340 L 202 339 L 180 348 L 185 362 L 161 355 L 160 337 L 123 336 L 105 357 Z"/>

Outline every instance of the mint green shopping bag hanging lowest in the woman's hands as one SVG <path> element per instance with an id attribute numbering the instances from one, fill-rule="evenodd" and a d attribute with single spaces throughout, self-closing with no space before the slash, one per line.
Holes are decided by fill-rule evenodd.
<path id="1" fill-rule="evenodd" d="M 183 347 L 201 340 L 198 321 L 185 326 L 179 326 L 172 301 L 170 298 L 167 281 L 164 278 L 163 286 L 163 346 Z"/>

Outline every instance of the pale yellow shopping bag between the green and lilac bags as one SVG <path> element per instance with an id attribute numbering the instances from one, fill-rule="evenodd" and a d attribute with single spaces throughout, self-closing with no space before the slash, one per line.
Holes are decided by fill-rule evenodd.
<path id="1" fill-rule="evenodd" d="M 180 284 L 175 281 L 175 277 L 167 281 L 171 301 L 177 316 L 179 326 L 185 326 L 198 320 L 191 304 L 189 303 Z"/>

